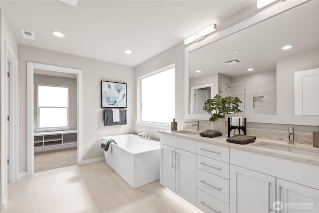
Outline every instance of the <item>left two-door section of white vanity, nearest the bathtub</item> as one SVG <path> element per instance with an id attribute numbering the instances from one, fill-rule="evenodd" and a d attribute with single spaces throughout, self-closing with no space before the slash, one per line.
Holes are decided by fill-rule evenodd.
<path id="1" fill-rule="evenodd" d="M 160 135 L 160 184 L 196 205 L 196 142 Z"/>

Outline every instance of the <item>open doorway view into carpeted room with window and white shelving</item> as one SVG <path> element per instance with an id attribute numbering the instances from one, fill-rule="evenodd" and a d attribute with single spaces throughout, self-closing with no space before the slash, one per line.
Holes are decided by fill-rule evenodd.
<path id="1" fill-rule="evenodd" d="M 34 173 L 77 164 L 76 78 L 34 69 Z"/>

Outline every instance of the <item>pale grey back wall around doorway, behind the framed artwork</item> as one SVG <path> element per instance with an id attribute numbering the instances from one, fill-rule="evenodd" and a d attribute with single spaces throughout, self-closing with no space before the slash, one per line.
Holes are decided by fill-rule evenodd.
<path id="1" fill-rule="evenodd" d="M 132 67 L 60 52 L 18 45 L 19 58 L 19 173 L 26 171 L 26 62 L 82 69 L 83 160 L 103 157 L 101 137 L 134 132 L 134 71 Z M 101 80 L 127 83 L 127 125 L 103 126 Z"/>

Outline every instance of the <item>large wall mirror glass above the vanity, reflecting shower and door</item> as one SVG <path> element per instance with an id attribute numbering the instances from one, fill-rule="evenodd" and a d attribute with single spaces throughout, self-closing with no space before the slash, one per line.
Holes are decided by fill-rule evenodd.
<path id="1" fill-rule="evenodd" d="M 319 122 L 318 11 L 319 1 L 308 1 L 189 50 L 188 115 L 204 113 L 193 110 L 191 88 L 212 84 L 211 96 L 239 97 L 251 118 L 298 115 L 308 116 L 309 125 Z"/>

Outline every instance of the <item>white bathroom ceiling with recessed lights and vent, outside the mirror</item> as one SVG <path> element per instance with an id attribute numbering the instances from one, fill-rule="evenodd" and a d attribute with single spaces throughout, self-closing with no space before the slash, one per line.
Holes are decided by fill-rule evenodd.
<path id="1" fill-rule="evenodd" d="M 1 0 L 19 44 L 135 67 L 255 0 Z M 24 39 L 20 29 L 34 32 Z M 63 32 L 58 38 L 51 31 Z M 218 25 L 217 25 L 218 30 Z M 130 49 L 132 54 L 125 54 Z"/>

